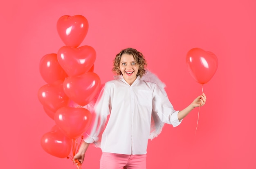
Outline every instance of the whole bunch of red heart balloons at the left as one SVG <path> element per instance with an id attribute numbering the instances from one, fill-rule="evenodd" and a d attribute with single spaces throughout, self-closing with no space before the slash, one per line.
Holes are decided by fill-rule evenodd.
<path id="1" fill-rule="evenodd" d="M 88 32 L 88 20 L 81 15 L 62 16 L 57 31 L 65 46 L 41 58 L 40 75 L 47 84 L 38 90 L 38 99 L 56 123 L 41 138 L 41 146 L 47 153 L 65 158 L 90 126 L 92 115 L 83 106 L 94 99 L 101 82 L 93 72 L 96 51 L 79 47 Z M 71 101 L 79 106 L 69 107 Z"/>

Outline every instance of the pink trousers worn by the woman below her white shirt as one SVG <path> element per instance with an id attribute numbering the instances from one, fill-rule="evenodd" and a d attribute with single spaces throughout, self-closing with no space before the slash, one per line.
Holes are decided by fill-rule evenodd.
<path id="1" fill-rule="evenodd" d="M 103 152 L 100 169 L 146 169 L 146 154 L 126 155 Z"/>

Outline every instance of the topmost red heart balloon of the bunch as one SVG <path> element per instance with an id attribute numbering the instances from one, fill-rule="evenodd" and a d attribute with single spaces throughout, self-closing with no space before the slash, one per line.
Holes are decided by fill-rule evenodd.
<path id="1" fill-rule="evenodd" d="M 88 20 L 81 15 L 62 16 L 57 21 L 57 31 L 65 45 L 78 47 L 88 32 Z"/>

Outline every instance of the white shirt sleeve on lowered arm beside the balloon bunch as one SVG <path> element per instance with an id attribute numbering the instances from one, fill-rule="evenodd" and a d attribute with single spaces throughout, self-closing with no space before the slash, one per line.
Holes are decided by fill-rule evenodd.
<path id="1" fill-rule="evenodd" d="M 106 89 L 106 85 L 101 90 L 99 98 L 95 103 L 93 112 L 92 112 L 92 124 L 89 129 L 85 132 L 84 141 L 87 143 L 93 143 L 99 141 L 99 136 L 103 131 L 108 115 L 110 114 L 111 109 L 111 99 L 110 94 Z"/>

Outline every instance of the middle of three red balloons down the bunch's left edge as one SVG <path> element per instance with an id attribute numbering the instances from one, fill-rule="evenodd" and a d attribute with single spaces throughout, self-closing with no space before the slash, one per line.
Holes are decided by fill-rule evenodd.
<path id="1" fill-rule="evenodd" d="M 47 109 L 56 112 L 60 107 L 67 106 L 69 98 L 63 91 L 63 81 L 47 84 L 38 90 L 38 100 Z"/>

